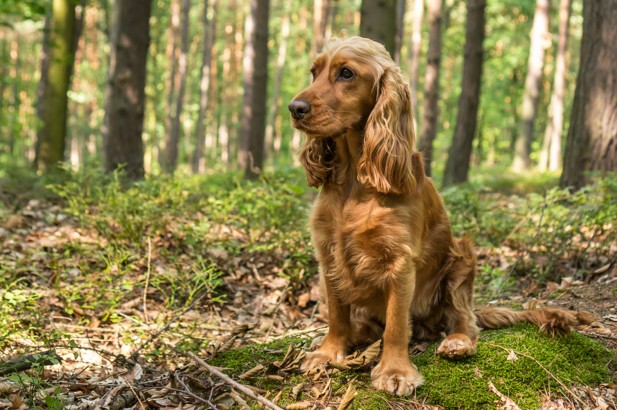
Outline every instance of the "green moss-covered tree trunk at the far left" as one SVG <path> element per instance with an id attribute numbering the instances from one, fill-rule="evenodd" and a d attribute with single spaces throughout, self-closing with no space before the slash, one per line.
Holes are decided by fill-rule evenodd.
<path id="1" fill-rule="evenodd" d="M 39 168 L 56 169 L 64 159 L 67 133 L 67 106 L 70 73 L 73 66 L 73 36 L 75 36 L 75 3 L 53 0 L 49 41 L 52 44 L 44 95 L 45 124 L 39 142 Z M 73 51 L 74 52 L 74 51 Z"/>

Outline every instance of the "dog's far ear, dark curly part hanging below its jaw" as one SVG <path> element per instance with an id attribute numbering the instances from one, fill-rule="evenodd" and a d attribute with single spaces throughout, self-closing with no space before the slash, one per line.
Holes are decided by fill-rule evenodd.
<path id="1" fill-rule="evenodd" d="M 310 187 L 318 188 L 328 181 L 334 168 L 334 141 L 331 137 L 307 138 L 300 151 L 300 162 L 307 173 Z"/>

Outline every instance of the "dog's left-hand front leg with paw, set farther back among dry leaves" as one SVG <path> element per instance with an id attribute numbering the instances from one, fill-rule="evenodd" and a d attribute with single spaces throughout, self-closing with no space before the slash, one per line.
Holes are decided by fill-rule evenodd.
<path id="1" fill-rule="evenodd" d="M 341 303 L 333 292 L 333 284 L 327 273 L 320 275 L 324 281 L 328 300 L 329 332 L 321 340 L 321 347 L 316 351 L 307 351 L 302 363 L 302 370 L 309 370 L 328 361 L 342 362 L 347 355 L 347 345 L 352 334 L 350 324 L 350 306 Z"/>

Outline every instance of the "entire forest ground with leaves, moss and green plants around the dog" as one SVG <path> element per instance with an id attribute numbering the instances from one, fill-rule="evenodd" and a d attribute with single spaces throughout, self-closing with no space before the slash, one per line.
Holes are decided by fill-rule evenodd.
<path id="1" fill-rule="evenodd" d="M 412 341 L 410 354 L 427 383 L 415 397 L 396 400 L 371 390 L 366 363 L 356 366 L 360 372 L 324 368 L 323 378 L 283 366 L 328 326 L 307 228 L 317 191 L 305 186 L 302 170 L 263 174 L 259 181 L 213 174 L 139 182 L 94 168 L 67 169 L 52 179 L 9 170 L 1 182 L 3 356 L 51 353 L 29 358 L 34 370 L 26 374 L 2 373 L 0 401 L 7 405 L 0 406 L 209 408 L 188 393 L 165 390 L 182 390 L 182 380 L 204 397 L 231 393 L 218 398 L 217 408 L 239 403 L 235 390 L 190 363 L 190 351 L 228 367 L 230 375 L 263 364 L 246 381 L 271 398 L 284 392 L 281 405 L 306 402 L 288 409 L 342 410 L 352 386 L 358 396 L 347 405 L 365 410 L 515 409 L 502 396 L 520 408 L 615 408 L 612 175 L 571 193 L 553 187 L 550 176 L 478 174 L 441 192 L 453 234 L 470 235 L 477 246 L 478 307 L 586 309 L 598 321 L 558 340 L 533 326 L 484 332 L 478 355 L 459 363 L 437 359 L 436 345 Z M 291 359 L 284 357 L 290 344 Z M 515 362 L 504 350 L 523 356 Z M 302 382 L 304 398 L 292 396 Z M 118 383 L 133 385 L 123 391 Z"/>

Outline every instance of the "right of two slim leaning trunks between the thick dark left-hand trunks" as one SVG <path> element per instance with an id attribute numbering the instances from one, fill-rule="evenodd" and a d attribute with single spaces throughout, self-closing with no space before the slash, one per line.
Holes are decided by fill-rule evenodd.
<path id="1" fill-rule="evenodd" d="M 195 128 L 195 153 L 193 154 L 193 173 L 199 172 L 199 162 L 204 156 L 205 112 L 208 109 L 210 92 L 210 64 L 212 63 L 212 43 L 217 34 L 217 0 L 212 0 L 212 20 L 208 20 L 208 0 L 204 0 L 204 45 L 202 48 L 201 78 L 199 79 L 199 114 Z"/>

